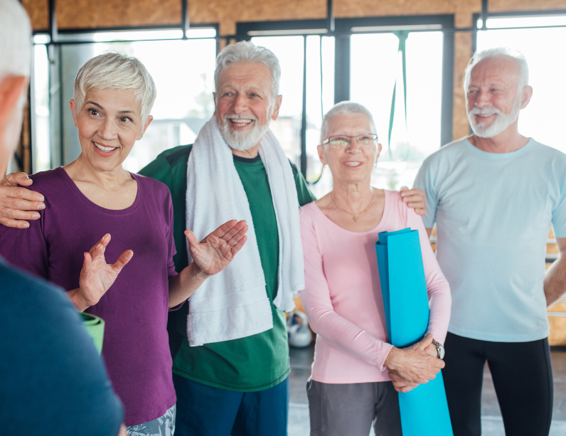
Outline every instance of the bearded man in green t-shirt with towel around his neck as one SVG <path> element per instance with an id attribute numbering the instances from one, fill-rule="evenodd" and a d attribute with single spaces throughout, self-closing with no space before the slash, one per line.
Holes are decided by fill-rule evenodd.
<path id="1" fill-rule="evenodd" d="M 280 74 L 275 55 L 252 43 L 228 46 L 217 59 L 215 117 L 232 151 L 233 165 L 250 206 L 273 327 L 239 339 L 190 346 L 190 302 L 171 312 L 169 341 L 177 392 L 176 435 L 287 435 L 289 347 L 285 314 L 274 304 L 282 261 L 279 215 L 276 217 L 267 163 L 258 154 L 269 121 L 277 119 L 281 105 Z M 188 265 L 183 231 L 191 150 L 192 146 L 181 146 L 165 151 L 140 171 L 171 189 L 177 247 L 173 260 L 177 270 Z M 314 201 L 303 176 L 287 163 L 292 167 L 298 206 Z"/>

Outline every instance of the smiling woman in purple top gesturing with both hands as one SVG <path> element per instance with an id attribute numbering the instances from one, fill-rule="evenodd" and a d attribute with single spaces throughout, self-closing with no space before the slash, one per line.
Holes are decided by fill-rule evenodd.
<path id="1" fill-rule="evenodd" d="M 174 429 L 168 310 L 223 270 L 247 231 L 245 221 L 232 220 L 198 243 L 186 230 L 194 262 L 177 274 L 169 189 L 122 168 L 151 123 L 155 97 L 136 58 L 89 60 L 70 100 L 80 156 L 31 177 L 46 210 L 29 229 L 0 226 L 0 255 L 67 289 L 80 312 L 106 321 L 102 357 L 136 435 Z"/>

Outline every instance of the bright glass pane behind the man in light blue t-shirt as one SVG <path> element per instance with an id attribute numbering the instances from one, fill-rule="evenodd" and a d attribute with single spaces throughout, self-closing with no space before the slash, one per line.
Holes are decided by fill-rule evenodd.
<path id="1" fill-rule="evenodd" d="M 488 27 L 554 26 L 566 23 L 566 16 L 488 18 Z M 477 48 L 506 46 L 527 58 L 529 85 L 533 97 L 520 111 L 519 132 L 550 147 L 566 152 L 559 127 L 566 117 L 566 53 L 557 50 L 566 43 L 566 28 L 530 28 L 478 32 Z M 541 114 L 544 114 L 541 116 Z"/>

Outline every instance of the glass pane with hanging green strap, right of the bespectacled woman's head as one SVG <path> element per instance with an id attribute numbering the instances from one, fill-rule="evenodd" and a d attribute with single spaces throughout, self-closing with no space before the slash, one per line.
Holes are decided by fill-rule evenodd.
<path id="1" fill-rule="evenodd" d="M 351 100 L 370 110 L 383 145 L 373 172 L 375 186 L 394 190 L 412 186 L 422 161 L 441 145 L 442 45 L 442 32 L 415 32 L 407 38 L 405 122 L 397 36 L 374 33 L 351 37 Z M 395 114 L 388 144 L 395 82 Z"/>

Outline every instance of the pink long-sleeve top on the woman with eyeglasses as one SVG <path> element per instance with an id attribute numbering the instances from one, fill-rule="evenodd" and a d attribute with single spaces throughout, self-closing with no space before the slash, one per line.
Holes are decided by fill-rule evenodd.
<path id="1" fill-rule="evenodd" d="M 389 381 L 388 344 L 375 242 L 378 233 L 419 230 L 429 295 L 427 333 L 444 344 L 450 319 L 450 288 L 432 252 L 422 219 L 397 192 L 385 191 L 376 228 L 356 233 L 333 223 L 316 206 L 301 208 L 305 289 L 301 300 L 316 333 L 312 379 L 321 383 Z"/>

